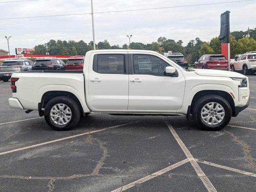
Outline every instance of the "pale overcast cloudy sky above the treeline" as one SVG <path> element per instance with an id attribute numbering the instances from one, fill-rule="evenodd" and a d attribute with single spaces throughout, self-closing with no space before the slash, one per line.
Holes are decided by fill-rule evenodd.
<path id="1" fill-rule="evenodd" d="M 60 14 L 90 13 L 90 0 L 36 0 L 8 2 L 0 0 L 0 19 L 14 17 L 47 16 Z M 13 0 L 17 1 L 17 0 Z M 94 12 L 133 10 L 230 2 L 236 0 L 93 0 Z M 2 3 L 6 2 L 6 3 Z M 8 2 L 8 3 L 7 3 Z M 102 13 L 94 15 L 96 42 L 107 39 L 110 45 L 128 43 L 126 35 L 132 34 L 133 42 L 150 43 L 158 37 L 184 41 L 196 37 L 208 41 L 218 36 L 220 14 L 229 10 L 230 29 L 256 28 L 256 0 L 227 4 L 166 8 L 143 11 Z M 54 40 L 92 40 L 92 18 L 90 14 L 46 18 L 23 18 L 0 20 L 0 49 L 10 52 L 15 48 L 33 48 Z"/>

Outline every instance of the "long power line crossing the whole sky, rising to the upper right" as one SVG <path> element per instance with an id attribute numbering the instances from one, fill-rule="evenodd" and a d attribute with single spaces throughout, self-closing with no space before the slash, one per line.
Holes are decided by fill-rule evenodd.
<path id="1" fill-rule="evenodd" d="M 29 1 L 29 0 L 27 0 L 27 1 Z M 218 3 L 206 3 L 206 4 L 171 6 L 171 7 L 158 7 L 158 8 L 145 8 L 145 9 L 131 9 L 131 10 L 119 10 L 119 11 L 94 12 L 94 14 L 129 12 L 129 11 L 144 11 L 144 10 L 169 9 L 169 8 L 182 8 L 182 7 L 192 7 L 192 6 L 206 6 L 206 5 L 227 4 L 227 3 L 237 3 L 237 2 L 249 2 L 249 1 L 255 1 L 255 0 L 240 0 L 240 1 L 229 1 L 229 2 L 218 2 Z M 74 16 L 74 15 L 86 15 L 86 14 L 92 14 L 92 13 L 62 14 L 62 15 L 47 15 L 47 16 L 31 16 L 31 17 L 12 17 L 12 18 L 0 18 L 0 20 L 25 19 L 25 18 L 42 18 L 42 17 L 57 17 L 57 16 Z"/>

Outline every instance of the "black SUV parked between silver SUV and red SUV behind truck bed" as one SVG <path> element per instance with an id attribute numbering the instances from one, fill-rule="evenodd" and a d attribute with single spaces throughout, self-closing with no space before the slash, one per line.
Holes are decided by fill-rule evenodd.
<path id="1" fill-rule="evenodd" d="M 32 65 L 32 71 L 34 70 L 64 70 L 65 63 L 58 58 L 45 57 L 37 59 Z"/>

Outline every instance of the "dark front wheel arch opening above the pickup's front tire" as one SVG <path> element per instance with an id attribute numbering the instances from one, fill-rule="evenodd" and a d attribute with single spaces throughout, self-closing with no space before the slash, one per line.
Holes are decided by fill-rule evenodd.
<path id="1" fill-rule="evenodd" d="M 199 91 L 197 92 L 193 99 L 192 99 L 192 102 L 191 102 L 191 108 L 190 108 L 190 114 L 192 114 L 192 111 L 193 111 L 193 107 L 194 107 L 194 103 L 200 99 L 200 97 L 204 96 L 204 95 L 208 95 L 208 94 L 216 94 L 216 95 L 219 95 L 219 96 L 222 96 L 223 98 L 225 98 L 231 108 L 232 108 L 232 116 L 235 116 L 235 103 L 234 103 L 234 99 L 232 98 L 232 96 L 228 93 L 228 92 L 225 92 L 225 91 L 222 91 L 222 90 L 202 90 L 202 91 Z"/>

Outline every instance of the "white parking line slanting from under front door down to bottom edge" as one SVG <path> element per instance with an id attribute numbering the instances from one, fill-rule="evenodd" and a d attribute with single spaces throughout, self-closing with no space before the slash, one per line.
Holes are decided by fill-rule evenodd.
<path id="1" fill-rule="evenodd" d="M 217 192 L 215 187 L 212 185 L 210 180 L 206 177 L 206 175 L 204 174 L 203 170 L 198 165 L 198 163 L 194 160 L 194 157 L 192 156 L 192 154 L 190 153 L 188 148 L 185 146 L 185 144 L 182 142 L 182 140 L 180 139 L 180 137 L 178 136 L 178 134 L 176 133 L 174 128 L 172 128 L 172 126 L 171 126 L 171 124 L 169 122 L 166 122 L 166 124 L 167 124 L 168 128 L 170 129 L 170 131 L 172 132 L 172 135 L 174 136 L 174 138 L 176 139 L 176 141 L 178 142 L 178 144 L 182 148 L 183 152 L 185 153 L 185 155 L 189 159 L 190 163 L 194 167 L 194 170 L 196 171 L 197 175 L 199 176 L 199 178 L 204 183 L 204 186 L 207 188 L 207 190 L 209 192 Z"/>

